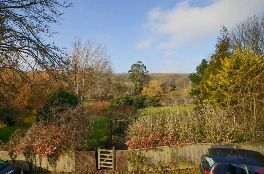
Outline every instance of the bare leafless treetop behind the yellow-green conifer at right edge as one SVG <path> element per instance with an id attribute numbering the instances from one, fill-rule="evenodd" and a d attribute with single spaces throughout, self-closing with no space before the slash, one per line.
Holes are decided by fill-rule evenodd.
<path id="1" fill-rule="evenodd" d="M 264 16 L 252 14 L 237 23 L 230 31 L 230 46 L 241 50 L 251 46 L 258 54 L 264 54 Z"/>

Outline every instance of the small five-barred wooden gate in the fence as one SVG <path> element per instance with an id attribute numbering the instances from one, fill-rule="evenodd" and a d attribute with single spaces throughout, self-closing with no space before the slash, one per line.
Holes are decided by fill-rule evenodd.
<path id="1" fill-rule="evenodd" d="M 112 150 L 98 148 L 98 169 L 108 167 L 114 170 L 114 153 L 115 147 Z"/>

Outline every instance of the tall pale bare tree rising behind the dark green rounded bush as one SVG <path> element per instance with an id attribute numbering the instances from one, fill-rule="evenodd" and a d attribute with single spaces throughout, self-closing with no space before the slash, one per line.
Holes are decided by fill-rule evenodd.
<path id="1" fill-rule="evenodd" d="M 75 37 L 72 42 L 73 61 L 72 79 L 69 80 L 70 87 L 77 96 L 83 100 L 84 92 L 94 83 L 112 73 L 111 55 L 107 53 L 106 47 L 91 41 L 83 43 L 82 38 Z"/>

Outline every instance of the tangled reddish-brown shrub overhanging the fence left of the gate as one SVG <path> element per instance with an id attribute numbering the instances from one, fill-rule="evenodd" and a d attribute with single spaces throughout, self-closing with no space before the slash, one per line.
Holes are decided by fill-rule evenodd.
<path id="1" fill-rule="evenodd" d="M 64 106 L 64 111 L 47 121 L 34 122 L 29 130 L 16 130 L 5 145 L 4 150 L 18 153 L 35 152 L 40 156 L 51 156 L 60 152 L 87 148 L 87 133 L 93 126 L 87 119 L 84 108 Z"/>

